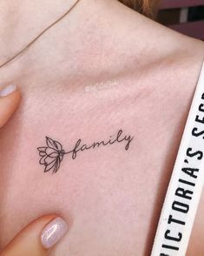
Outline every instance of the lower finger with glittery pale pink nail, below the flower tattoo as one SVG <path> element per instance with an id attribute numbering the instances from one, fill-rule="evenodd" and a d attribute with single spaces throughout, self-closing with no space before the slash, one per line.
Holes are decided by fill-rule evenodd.
<path id="1" fill-rule="evenodd" d="M 67 223 L 56 215 L 46 215 L 24 227 L 3 249 L 1 256 L 45 256 L 67 232 Z"/>

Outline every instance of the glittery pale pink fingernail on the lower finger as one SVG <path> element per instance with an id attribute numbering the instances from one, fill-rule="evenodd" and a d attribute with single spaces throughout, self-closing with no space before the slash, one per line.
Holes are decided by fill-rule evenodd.
<path id="1" fill-rule="evenodd" d="M 46 249 L 54 246 L 68 231 L 67 223 L 60 217 L 53 219 L 43 228 L 41 241 Z"/>

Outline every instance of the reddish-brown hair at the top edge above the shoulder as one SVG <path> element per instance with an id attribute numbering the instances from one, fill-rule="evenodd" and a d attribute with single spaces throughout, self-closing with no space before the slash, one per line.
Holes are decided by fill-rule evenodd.
<path id="1" fill-rule="evenodd" d="M 124 3 L 128 7 L 137 10 L 141 14 L 147 17 L 153 17 L 153 5 L 155 1 L 152 0 L 119 0 L 121 3 Z"/>

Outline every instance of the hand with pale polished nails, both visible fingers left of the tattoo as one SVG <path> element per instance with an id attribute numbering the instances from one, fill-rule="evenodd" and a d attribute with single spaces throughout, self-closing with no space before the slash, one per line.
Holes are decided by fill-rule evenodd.
<path id="1" fill-rule="evenodd" d="M 0 128 L 6 124 L 16 111 L 21 99 L 15 85 L 0 91 Z M 3 248 L 1 256 L 44 256 L 49 249 L 67 232 L 66 222 L 55 214 L 45 215 L 32 221 L 18 232 L 14 239 Z"/>

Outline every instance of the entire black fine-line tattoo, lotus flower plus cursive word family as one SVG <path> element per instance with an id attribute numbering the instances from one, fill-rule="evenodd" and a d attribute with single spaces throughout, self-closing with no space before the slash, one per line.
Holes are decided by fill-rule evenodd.
<path id="1" fill-rule="evenodd" d="M 110 135 L 109 139 L 102 140 L 100 142 L 94 142 L 91 145 L 83 144 L 82 139 L 79 138 L 76 141 L 76 145 L 74 145 L 72 150 L 69 152 L 65 152 L 63 150 L 63 145 L 61 145 L 58 141 L 46 137 L 47 146 L 37 148 L 41 157 L 39 164 L 44 165 L 44 172 L 52 171 L 52 173 L 56 173 L 60 168 L 64 155 L 67 154 L 70 154 L 72 159 L 76 159 L 79 152 L 88 151 L 100 146 L 122 143 L 123 141 L 125 142 L 125 150 L 128 151 L 129 145 L 134 137 L 130 135 L 123 135 L 122 133 L 123 131 L 119 130 L 114 138 Z"/>

